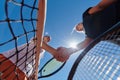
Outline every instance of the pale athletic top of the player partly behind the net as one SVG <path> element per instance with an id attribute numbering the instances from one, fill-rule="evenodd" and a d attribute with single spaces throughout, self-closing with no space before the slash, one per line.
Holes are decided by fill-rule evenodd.
<path id="1" fill-rule="evenodd" d="M 6 58 L 9 58 L 10 56 L 14 55 L 9 60 L 12 61 L 12 63 L 14 63 L 22 72 L 24 72 L 27 77 L 29 77 L 34 73 L 33 69 L 35 67 L 35 53 L 36 53 L 35 46 L 36 45 L 32 41 L 29 42 L 28 46 L 27 44 L 23 44 L 19 46 L 18 50 L 20 52 L 18 53 L 18 58 L 15 48 L 4 52 L 3 55 Z M 44 49 L 40 50 L 40 59 L 41 56 L 43 56 L 44 52 L 45 52 Z"/>

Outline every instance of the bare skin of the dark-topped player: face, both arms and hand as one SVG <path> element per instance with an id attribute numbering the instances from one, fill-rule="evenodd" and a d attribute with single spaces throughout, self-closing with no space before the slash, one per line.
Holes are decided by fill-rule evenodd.
<path id="1" fill-rule="evenodd" d="M 114 4 L 115 2 L 117 2 L 118 0 L 102 0 L 101 2 L 99 2 L 96 6 L 94 6 L 93 8 L 91 8 L 88 13 L 89 14 L 94 14 L 97 13 L 99 11 L 104 10 L 105 8 L 107 8 L 108 6 L 110 6 L 111 4 Z M 76 26 L 76 31 L 82 31 L 83 30 L 83 25 L 81 23 L 79 23 Z M 56 59 L 58 61 L 66 61 L 69 56 L 81 49 L 86 48 L 91 42 L 93 41 L 93 39 L 86 37 L 85 40 L 81 43 L 79 43 L 77 45 L 77 49 L 73 49 L 73 48 L 65 48 L 65 47 L 59 47 L 58 48 L 58 52 L 60 52 L 60 54 L 58 53 L 58 57 L 56 57 Z M 57 54 L 57 53 L 56 53 Z M 64 59 L 63 59 L 64 58 Z"/>

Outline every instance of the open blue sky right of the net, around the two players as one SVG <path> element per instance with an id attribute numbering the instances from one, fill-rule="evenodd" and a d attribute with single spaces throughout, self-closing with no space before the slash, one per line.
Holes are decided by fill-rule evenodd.
<path id="1" fill-rule="evenodd" d="M 82 22 L 82 13 L 98 2 L 99 0 L 48 0 L 45 34 L 52 37 L 49 44 L 54 48 L 59 46 L 70 47 L 70 43 L 79 43 L 84 40 L 84 34 L 75 31 L 71 34 L 71 32 L 77 23 Z M 80 52 L 72 55 L 58 73 L 40 80 L 67 80 L 70 68 Z M 41 66 L 51 57 L 46 52 L 41 60 Z"/>

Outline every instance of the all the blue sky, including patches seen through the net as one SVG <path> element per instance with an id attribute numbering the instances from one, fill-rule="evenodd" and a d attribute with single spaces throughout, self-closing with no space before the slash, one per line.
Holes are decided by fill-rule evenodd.
<path id="1" fill-rule="evenodd" d="M 6 0 L 0 0 L 0 20 L 6 19 L 4 10 L 5 1 Z M 15 1 L 21 2 L 22 0 Z M 25 0 L 25 3 L 28 5 L 33 5 L 33 1 L 34 0 Z M 70 43 L 78 43 L 84 40 L 84 34 L 79 34 L 75 31 L 71 34 L 71 32 L 77 23 L 82 22 L 82 13 L 87 8 L 96 5 L 99 1 L 100 0 L 47 0 L 47 15 L 44 34 L 51 36 L 52 40 L 49 44 L 54 48 L 57 48 L 59 46 L 70 47 Z M 20 7 L 12 4 L 9 4 L 9 6 L 9 17 L 13 19 L 15 18 L 17 20 L 20 19 Z M 26 19 L 29 19 L 29 13 L 31 10 L 29 10 L 29 8 L 24 8 L 23 11 L 23 16 Z M 33 16 L 36 18 L 36 13 L 34 13 Z M 20 23 L 11 23 L 11 25 L 18 26 L 14 27 L 14 32 L 16 35 L 23 33 L 23 30 L 20 30 L 19 28 L 22 26 Z M 31 23 L 26 22 L 25 25 L 31 26 Z M 26 30 L 31 30 L 30 28 L 27 28 L 28 27 L 26 27 Z M 0 29 L 0 43 L 12 38 L 7 23 L 0 23 Z M 33 34 L 31 35 L 33 36 Z M 31 35 L 29 37 L 31 37 Z M 0 46 L 0 52 L 14 48 L 15 45 L 13 43 L 14 42 L 11 42 L 5 46 Z M 25 43 L 25 40 L 18 40 L 18 45 L 23 43 Z M 47 78 L 42 78 L 40 80 L 67 80 L 70 68 L 77 56 L 78 53 L 72 55 L 64 68 L 55 75 Z M 51 57 L 52 56 L 46 52 L 44 58 L 41 60 L 41 66 L 43 66 L 45 62 L 48 61 Z"/>

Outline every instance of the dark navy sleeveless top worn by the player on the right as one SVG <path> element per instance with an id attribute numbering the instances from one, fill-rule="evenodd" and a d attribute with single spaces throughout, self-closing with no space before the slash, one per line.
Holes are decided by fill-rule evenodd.
<path id="1" fill-rule="evenodd" d="M 83 25 L 88 37 L 95 39 L 120 21 L 120 9 L 118 9 L 120 4 L 118 5 L 118 2 L 92 15 L 88 13 L 90 8 L 84 12 Z"/>

